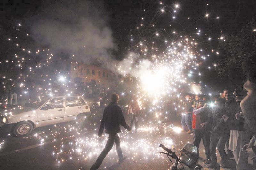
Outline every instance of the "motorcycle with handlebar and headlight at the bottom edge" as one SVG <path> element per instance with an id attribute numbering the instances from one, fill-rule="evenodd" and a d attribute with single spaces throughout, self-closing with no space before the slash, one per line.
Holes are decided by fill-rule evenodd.
<path id="1" fill-rule="evenodd" d="M 198 148 L 192 144 L 186 144 L 181 150 L 179 156 L 172 152 L 171 149 L 166 148 L 164 145 L 160 144 L 159 147 L 163 148 L 167 153 L 160 152 L 160 154 L 167 155 L 168 159 L 171 161 L 175 159 L 175 163 L 169 170 L 201 170 L 203 167 L 198 164 L 199 151 Z"/>

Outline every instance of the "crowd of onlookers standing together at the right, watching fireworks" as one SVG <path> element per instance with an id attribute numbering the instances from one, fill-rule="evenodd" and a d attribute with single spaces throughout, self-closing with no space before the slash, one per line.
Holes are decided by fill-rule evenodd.
<path id="1" fill-rule="evenodd" d="M 245 89 L 248 84 L 252 85 L 248 80 L 244 85 Z M 248 95 L 244 100 L 248 98 Z M 244 115 L 251 115 L 254 110 L 244 112 L 243 106 L 245 105 L 243 105 L 244 102 L 241 103 L 242 96 L 224 89 L 223 98 L 215 97 L 213 102 L 208 102 L 200 95 L 193 98 L 188 94 L 185 98 L 181 119 L 182 131 L 193 134 L 193 145 L 198 148 L 201 139 L 203 140 L 207 167 L 216 168 L 217 148 L 221 157 L 220 167 L 229 168 L 228 159 L 234 157 L 237 170 L 251 169 L 252 167 L 248 165 L 246 149 L 254 145 L 255 138 L 246 121 L 247 116 Z M 246 107 L 253 106 L 246 105 Z M 251 126 L 255 125 L 251 124 Z M 253 141 L 248 144 L 250 139 Z"/>

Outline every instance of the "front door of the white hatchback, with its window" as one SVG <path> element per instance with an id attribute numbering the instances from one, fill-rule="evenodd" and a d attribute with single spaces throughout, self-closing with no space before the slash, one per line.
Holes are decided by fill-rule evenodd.
<path id="1" fill-rule="evenodd" d="M 49 100 L 39 108 L 37 114 L 37 125 L 46 126 L 63 122 L 64 97 L 57 97 Z"/>

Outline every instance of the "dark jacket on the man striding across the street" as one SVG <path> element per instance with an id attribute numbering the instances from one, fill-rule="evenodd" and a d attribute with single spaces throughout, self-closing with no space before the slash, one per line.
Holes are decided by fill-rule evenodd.
<path id="1" fill-rule="evenodd" d="M 129 129 L 126 124 L 122 109 L 114 102 L 111 102 L 103 112 L 103 118 L 100 123 L 99 134 L 103 133 L 105 128 L 107 134 L 119 133 L 120 125 Z"/>

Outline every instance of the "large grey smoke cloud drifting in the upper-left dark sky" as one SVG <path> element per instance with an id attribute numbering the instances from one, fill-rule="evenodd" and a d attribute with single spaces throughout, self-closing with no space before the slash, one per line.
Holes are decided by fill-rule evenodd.
<path id="1" fill-rule="evenodd" d="M 54 1 L 32 19 L 32 36 L 51 50 L 75 54 L 84 62 L 107 61 L 115 45 L 105 16 L 98 1 Z"/>

